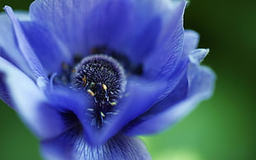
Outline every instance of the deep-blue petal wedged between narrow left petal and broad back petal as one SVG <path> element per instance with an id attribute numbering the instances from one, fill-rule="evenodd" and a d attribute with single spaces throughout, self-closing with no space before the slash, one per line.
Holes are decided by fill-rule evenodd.
<path id="1" fill-rule="evenodd" d="M 48 73 L 59 73 L 61 64 L 73 63 L 72 54 L 50 31 L 32 21 L 21 21 L 22 29 L 31 48 Z"/>

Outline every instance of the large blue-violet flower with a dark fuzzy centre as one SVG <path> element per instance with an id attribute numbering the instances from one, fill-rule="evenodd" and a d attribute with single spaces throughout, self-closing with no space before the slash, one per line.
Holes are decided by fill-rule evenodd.
<path id="1" fill-rule="evenodd" d="M 149 159 L 135 135 L 209 98 L 208 49 L 184 31 L 184 1 L 36 0 L 0 16 L 0 97 L 46 159 Z"/>

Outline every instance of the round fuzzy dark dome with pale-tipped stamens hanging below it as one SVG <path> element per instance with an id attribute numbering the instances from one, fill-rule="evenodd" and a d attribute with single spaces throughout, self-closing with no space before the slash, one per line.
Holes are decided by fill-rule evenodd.
<path id="1" fill-rule="evenodd" d="M 92 125 L 100 127 L 109 114 L 116 114 L 114 107 L 125 92 L 126 75 L 121 65 L 111 57 L 95 54 L 84 58 L 74 69 L 72 85 L 86 92 L 93 106 L 88 111 Z"/>

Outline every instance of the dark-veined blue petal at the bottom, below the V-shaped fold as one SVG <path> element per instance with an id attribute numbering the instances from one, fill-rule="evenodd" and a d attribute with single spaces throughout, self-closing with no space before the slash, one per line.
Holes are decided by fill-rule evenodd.
<path id="1" fill-rule="evenodd" d="M 71 136 L 71 137 L 70 137 Z M 41 142 L 41 153 L 45 159 L 118 159 L 149 160 L 150 155 L 140 139 L 116 135 L 106 144 L 90 146 L 83 134 L 63 134 L 56 139 Z"/>

